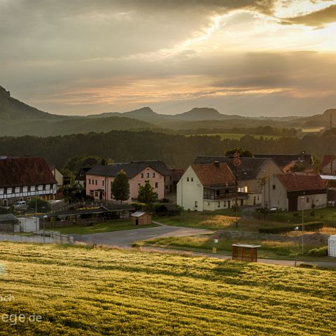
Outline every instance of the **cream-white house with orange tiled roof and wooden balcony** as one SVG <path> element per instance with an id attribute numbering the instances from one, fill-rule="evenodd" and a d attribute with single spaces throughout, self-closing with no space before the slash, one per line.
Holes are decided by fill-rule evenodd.
<path id="1" fill-rule="evenodd" d="M 177 204 L 192 211 L 229 209 L 235 204 L 235 176 L 226 163 L 190 165 L 177 183 Z M 247 193 L 237 193 L 244 205 Z"/>

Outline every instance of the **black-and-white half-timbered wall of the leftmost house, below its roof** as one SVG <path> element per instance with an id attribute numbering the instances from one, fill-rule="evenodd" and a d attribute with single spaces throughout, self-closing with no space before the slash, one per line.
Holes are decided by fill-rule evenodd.
<path id="1" fill-rule="evenodd" d="M 56 193 L 57 187 L 55 184 L 0 188 L 0 205 L 8 206 L 20 200 L 29 201 L 35 196 L 44 198 L 45 200 L 55 200 Z"/>

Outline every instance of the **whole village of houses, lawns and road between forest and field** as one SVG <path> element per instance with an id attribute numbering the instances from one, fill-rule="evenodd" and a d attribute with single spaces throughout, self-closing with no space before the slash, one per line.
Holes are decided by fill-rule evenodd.
<path id="1" fill-rule="evenodd" d="M 42 157 L 3 155 L 0 239 L 333 266 L 335 157 L 317 172 L 304 152 L 249 156 L 198 156 L 186 169 L 87 160 L 71 181 Z"/>

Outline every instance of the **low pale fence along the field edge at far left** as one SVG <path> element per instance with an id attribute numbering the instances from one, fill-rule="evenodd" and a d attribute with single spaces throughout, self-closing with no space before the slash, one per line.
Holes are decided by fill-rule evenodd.
<path id="1" fill-rule="evenodd" d="M 45 244 L 72 244 L 73 237 L 69 235 L 62 235 L 60 232 L 45 231 L 36 232 L 35 235 L 10 235 L 0 234 L 0 241 L 13 241 L 21 243 L 45 243 Z"/>

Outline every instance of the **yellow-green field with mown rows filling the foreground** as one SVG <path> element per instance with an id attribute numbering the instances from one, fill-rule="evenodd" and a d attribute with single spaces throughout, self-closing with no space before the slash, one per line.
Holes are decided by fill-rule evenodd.
<path id="1" fill-rule="evenodd" d="M 335 272 L 0 243 L 0 335 L 335 335 Z M 14 320 L 13 320 L 14 321 Z"/>

